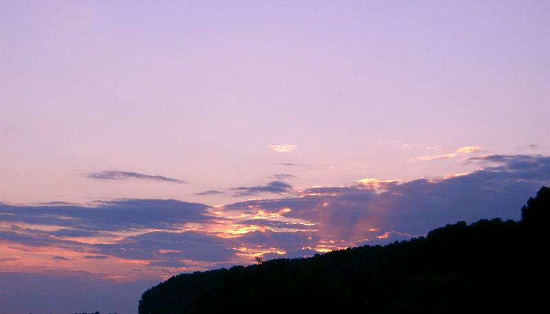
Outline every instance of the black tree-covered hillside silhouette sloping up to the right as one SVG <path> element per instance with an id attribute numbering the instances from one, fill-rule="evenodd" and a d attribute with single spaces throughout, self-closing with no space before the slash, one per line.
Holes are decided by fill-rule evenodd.
<path id="1" fill-rule="evenodd" d="M 140 314 L 534 313 L 548 309 L 550 189 L 521 221 L 461 221 L 426 237 L 181 274 Z"/>

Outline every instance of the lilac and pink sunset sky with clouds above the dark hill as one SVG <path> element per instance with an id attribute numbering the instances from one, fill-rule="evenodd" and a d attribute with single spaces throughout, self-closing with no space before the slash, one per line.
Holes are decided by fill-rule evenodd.
<path id="1" fill-rule="evenodd" d="M 548 1 L 0 0 L 0 314 L 519 219 Z M 52 289 L 56 287 L 56 289 Z"/>

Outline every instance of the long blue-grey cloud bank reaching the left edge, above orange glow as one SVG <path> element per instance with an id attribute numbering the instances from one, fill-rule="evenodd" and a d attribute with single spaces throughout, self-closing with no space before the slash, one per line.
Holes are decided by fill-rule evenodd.
<path id="1" fill-rule="evenodd" d="M 173 199 L 120 199 L 95 206 L 17 206 L 0 203 L 0 222 L 56 225 L 56 236 L 97 236 L 96 232 L 133 229 L 172 229 L 184 223 L 210 219 L 208 205 Z"/>

